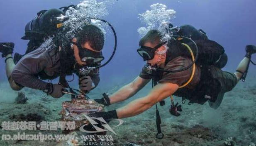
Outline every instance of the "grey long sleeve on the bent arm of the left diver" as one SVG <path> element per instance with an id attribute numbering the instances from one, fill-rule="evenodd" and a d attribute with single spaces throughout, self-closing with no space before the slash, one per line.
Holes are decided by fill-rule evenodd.
<path id="1" fill-rule="evenodd" d="M 47 82 L 38 79 L 37 74 L 51 64 L 51 59 L 44 53 L 44 49 L 37 49 L 24 57 L 16 64 L 12 71 L 12 79 L 32 89 L 46 89 Z"/>

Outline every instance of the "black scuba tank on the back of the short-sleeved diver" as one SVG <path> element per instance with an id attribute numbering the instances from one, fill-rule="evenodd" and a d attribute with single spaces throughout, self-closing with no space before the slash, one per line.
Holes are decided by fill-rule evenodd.
<path id="1" fill-rule="evenodd" d="M 201 29 L 197 30 L 195 27 L 191 25 L 183 25 L 180 26 L 178 31 L 172 31 L 171 32 L 173 35 L 178 35 L 178 36 L 185 36 L 188 38 L 191 38 L 195 43 L 197 44 L 198 47 L 198 60 L 196 61 L 196 64 L 200 65 L 214 65 L 217 68 L 223 68 L 227 64 L 227 54 L 225 54 L 224 48 L 219 45 L 217 42 L 213 40 L 209 40 L 206 33 L 202 31 Z M 188 44 L 191 49 L 194 52 L 195 55 L 195 46 L 193 42 L 191 42 L 188 39 L 183 39 L 179 37 L 175 37 L 176 40 L 179 40 L 180 43 L 185 43 Z M 173 45 L 169 44 L 171 47 Z M 174 43 L 174 46 L 177 46 L 177 42 Z M 174 47 L 178 48 L 178 47 Z M 183 47 L 184 48 L 184 47 Z M 182 49 L 182 50 L 172 50 L 172 53 L 174 53 L 175 57 L 178 57 L 179 55 L 185 55 L 190 57 L 190 53 L 188 52 L 188 49 Z M 178 53 L 177 53 L 178 52 Z M 174 59 L 172 57 L 172 59 Z"/>

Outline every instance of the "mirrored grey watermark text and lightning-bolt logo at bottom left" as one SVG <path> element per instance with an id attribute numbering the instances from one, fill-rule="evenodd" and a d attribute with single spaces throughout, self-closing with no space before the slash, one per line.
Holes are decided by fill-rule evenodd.
<path id="1" fill-rule="evenodd" d="M 1 138 L 3 141 L 5 140 L 34 140 L 34 141 L 68 141 L 68 140 L 78 140 L 82 141 L 84 145 L 114 145 L 113 137 L 111 134 L 96 134 L 99 132 L 107 132 L 110 131 L 117 135 L 113 130 L 115 127 L 122 125 L 124 123 L 121 119 L 109 119 L 111 121 L 117 121 L 118 124 L 110 127 L 108 123 L 103 118 L 91 118 L 85 115 L 85 118 L 89 121 L 88 124 L 85 124 L 79 128 L 81 132 L 85 133 L 94 133 L 94 134 L 84 134 L 78 136 L 77 134 L 42 134 L 38 132 L 36 134 L 27 134 L 25 132 L 17 132 L 17 134 L 2 134 Z M 93 131 L 85 130 L 87 127 L 93 127 Z M 100 126 L 100 127 L 99 127 Z M 2 130 L 5 131 L 15 131 L 15 130 L 28 130 L 28 131 L 52 131 L 52 130 L 67 130 L 72 131 L 76 130 L 76 122 L 75 121 L 3 121 L 1 122 Z"/>

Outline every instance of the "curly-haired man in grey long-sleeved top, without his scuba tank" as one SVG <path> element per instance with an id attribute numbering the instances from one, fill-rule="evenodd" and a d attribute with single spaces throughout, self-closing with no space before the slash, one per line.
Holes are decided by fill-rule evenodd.
<path id="1" fill-rule="evenodd" d="M 23 87 L 29 87 L 59 98 L 63 96 L 62 91 L 68 87 L 66 75 L 72 73 L 78 75 L 79 69 L 83 66 L 100 64 L 104 59 L 101 52 L 104 35 L 100 28 L 85 24 L 82 30 L 74 35 L 76 37 L 70 40 L 61 40 L 61 36 L 57 36 L 56 40 L 46 40 L 38 49 L 22 57 L 16 65 L 12 59 L 14 43 L 0 43 L 0 52 L 2 57 L 5 57 L 6 74 L 12 89 L 20 90 Z M 64 46 L 55 43 L 64 41 L 68 41 Z M 43 81 L 59 76 L 59 84 Z M 90 91 L 98 85 L 99 81 L 98 69 L 92 70 L 87 76 L 79 77 L 79 88 Z"/>

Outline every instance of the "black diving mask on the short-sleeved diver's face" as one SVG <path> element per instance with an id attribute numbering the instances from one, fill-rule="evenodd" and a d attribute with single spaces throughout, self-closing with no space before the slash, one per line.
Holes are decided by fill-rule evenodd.
<path id="1" fill-rule="evenodd" d="M 137 49 L 137 52 L 139 55 L 143 58 L 144 61 L 151 60 L 155 56 L 155 51 L 160 48 L 162 45 L 166 44 L 167 41 L 162 42 L 158 44 L 156 47 L 151 48 L 151 47 L 146 47 L 146 46 L 141 46 L 141 48 Z"/>

